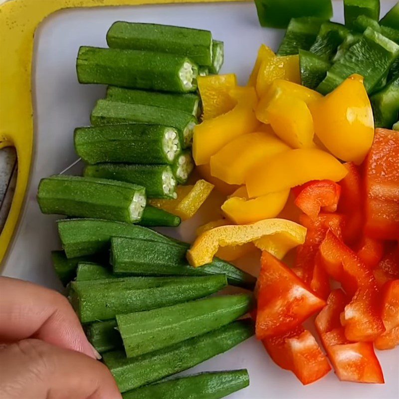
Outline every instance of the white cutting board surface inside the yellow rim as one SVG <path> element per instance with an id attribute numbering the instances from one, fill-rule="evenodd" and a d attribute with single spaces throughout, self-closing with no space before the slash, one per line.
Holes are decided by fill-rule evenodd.
<path id="1" fill-rule="evenodd" d="M 394 3 L 382 1 L 382 14 Z M 334 11 L 334 20 L 343 22 L 342 1 L 334 1 Z M 214 38 L 224 41 L 221 73 L 236 73 L 240 84 L 246 83 L 259 45 L 265 43 L 276 50 L 284 33 L 261 28 L 252 2 L 76 9 L 60 11 L 47 18 L 35 37 L 35 154 L 31 184 L 16 239 L 5 259 L 4 275 L 62 289 L 50 260 L 50 250 L 60 248 L 57 217 L 40 213 L 36 188 L 41 178 L 61 172 L 77 158 L 73 129 L 89 124 L 90 111 L 95 101 L 104 96 L 105 87 L 78 84 L 76 54 L 80 45 L 106 46 L 105 34 L 116 20 L 211 30 Z M 202 212 L 178 229 L 163 231 L 192 240 L 195 225 L 205 218 Z M 273 364 L 255 338 L 202 363 L 190 373 L 248 369 L 250 386 L 230 399 L 398 399 L 399 348 L 378 352 L 378 356 L 385 385 L 342 383 L 331 372 L 323 380 L 303 387 L 292 373 Z"/>

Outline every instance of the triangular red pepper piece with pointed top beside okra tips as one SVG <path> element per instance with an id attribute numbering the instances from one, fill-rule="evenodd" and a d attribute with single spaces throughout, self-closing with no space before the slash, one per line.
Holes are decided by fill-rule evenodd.
<path id="1" fill-rule="evenodd" d="M 286 265 L 266 251 L 262 252 L 257 293 L 259 340 L 294 329 L 325 305 Z"/>

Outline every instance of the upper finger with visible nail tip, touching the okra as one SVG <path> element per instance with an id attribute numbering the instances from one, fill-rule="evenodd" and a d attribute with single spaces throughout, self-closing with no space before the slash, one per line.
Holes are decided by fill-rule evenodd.
<path id="1" fill-rule="evenodd" d="M 96 358 L 68 300 L 27 281 L 0 277 L 0 342 L 38 338 Z"/>

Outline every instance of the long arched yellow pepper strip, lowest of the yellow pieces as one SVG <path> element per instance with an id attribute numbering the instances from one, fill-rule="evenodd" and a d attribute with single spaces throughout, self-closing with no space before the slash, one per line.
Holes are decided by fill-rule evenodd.
<path id="1" fill-rule="evenodd" d="M 291 220 L 266 219 L 252 224 L 215 227 L 201 234 L 187 252 L 189 263 L 202 266 L 212 261 L 219 247 L 242 245 L 270 236 L 270 242 L 278 247 L 281 237 L 291 236 L 297 245 L 305 241 L 306 228 Z M 285 245 L 285 238 L 284 243 Z"/>

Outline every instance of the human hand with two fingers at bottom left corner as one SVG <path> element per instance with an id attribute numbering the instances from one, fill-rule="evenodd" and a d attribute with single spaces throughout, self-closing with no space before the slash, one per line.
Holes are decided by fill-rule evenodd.
<path id="1" fill-rule="evenodd" d="M 0 398 L 121 399 L 68 300 L 0 277 Z"/>

